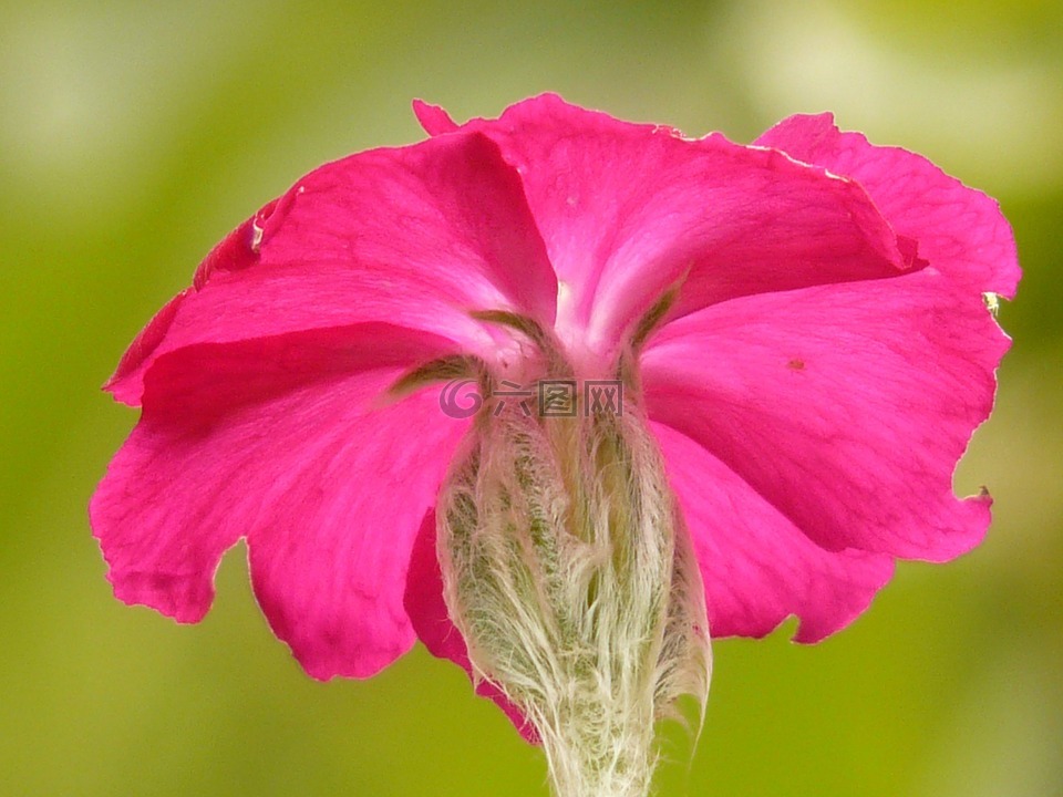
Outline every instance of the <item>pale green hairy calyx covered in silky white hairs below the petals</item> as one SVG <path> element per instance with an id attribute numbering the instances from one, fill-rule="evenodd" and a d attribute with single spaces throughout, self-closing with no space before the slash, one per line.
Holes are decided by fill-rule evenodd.
<path id="1" fill-rule="evenodd" d="M 559 797 L 644 795 L 654 722 L 681 694 L 703 708 L 711 670 L 701 577 L 657 444 L 638 407 L 493 408 L 436 513 L 451 617 L 477 675 L 534 723 Z"/>

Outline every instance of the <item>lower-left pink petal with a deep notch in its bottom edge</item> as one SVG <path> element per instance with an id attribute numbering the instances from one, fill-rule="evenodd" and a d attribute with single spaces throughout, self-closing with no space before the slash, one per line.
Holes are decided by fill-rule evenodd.
<path id="1" fill-rule="evenodd" d="M 262 610 L 308 673 L 367 676 L 407 650 L 410 550 L 466 424 L 437 391 L 380 398 L 445 344 L 378 324 L 158 359 L 91 505 L 115 593 L 196 621 L 247 537 Z"/>

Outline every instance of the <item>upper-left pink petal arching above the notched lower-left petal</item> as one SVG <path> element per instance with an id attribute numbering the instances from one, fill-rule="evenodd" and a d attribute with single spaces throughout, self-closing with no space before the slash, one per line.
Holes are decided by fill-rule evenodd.
<path id="1" fill-rule="evenodd" d="M 388 322 L 497 353 L 469 318 L 554 322 L 557 282 L 517 174 L 469 133 L 322 166 L 237 228 L 138 339 L 107 385 L 140 402 L 167 352 L 300 330 Z"/>

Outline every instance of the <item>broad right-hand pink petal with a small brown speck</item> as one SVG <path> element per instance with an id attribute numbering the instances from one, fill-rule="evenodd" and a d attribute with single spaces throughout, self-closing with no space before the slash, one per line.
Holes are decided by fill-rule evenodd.
<path id="1" fill-rule="evenodd" d="M 929 270 L 715 306 L 643 358 L 652 418 L 701 444 L 811 539 L 943 561 L 988 497 L 952 473 L 1008 346 L 978 296 Z"/>

